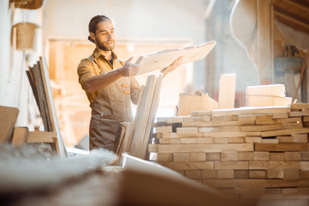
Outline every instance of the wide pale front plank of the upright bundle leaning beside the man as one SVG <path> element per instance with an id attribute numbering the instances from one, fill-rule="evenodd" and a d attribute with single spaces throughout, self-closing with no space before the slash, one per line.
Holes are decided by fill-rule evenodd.
<path id="1" fill-rule="evenodd" d="M 135 116 L 134 121 L 136 124 L 133 132 L 133 138 L 131 142 L 130 155 L 139 157 L 140 148 L 143 144 L 143 139 L 146 132 L 147 121 L 149 118 L 149 111 L 151 108 L 151 102 L 155 92 L 157 76 L 152 74 L 147 77 L 146 86 L 143 95 L 141 96 L 141 106 L 138 116 Z"/>

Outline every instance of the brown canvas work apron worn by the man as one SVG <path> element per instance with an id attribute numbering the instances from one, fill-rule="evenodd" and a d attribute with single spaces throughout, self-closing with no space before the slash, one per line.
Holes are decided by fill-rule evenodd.
<path id="1" fill-rule="evenodd" d="M 122 77 L 99 90 L 93 102 L 89 125 L 90 150 L 99 147 L 113 150 L 119 123 L 132 121 L 130 78 Z"/>

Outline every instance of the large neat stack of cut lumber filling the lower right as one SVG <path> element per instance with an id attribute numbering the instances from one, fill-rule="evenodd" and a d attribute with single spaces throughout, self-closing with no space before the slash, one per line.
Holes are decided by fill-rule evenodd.
<path id="1" fill-rule="evenodd" d="M 157 118 L 159 164 L 242 199 L 308 204 L 309 104 Z M 281 200 L 279 200 L 281 201 Z"/>

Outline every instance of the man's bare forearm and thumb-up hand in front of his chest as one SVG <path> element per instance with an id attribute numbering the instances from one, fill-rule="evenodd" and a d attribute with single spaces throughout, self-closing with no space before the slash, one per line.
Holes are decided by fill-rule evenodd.
<path id="1" fill-rule="evenodd" d="M 121 77 L 135 76 L 138 73 L 139 65 L 130 63 L 134 56 L 129 58 L 122 67 L 114 69 L 104 74 L 96 75 L 88 79 L 86 84 L 86 91 L 93 92 L 103 89 L 110 85 L 112 82 L 120 79 Z"/>

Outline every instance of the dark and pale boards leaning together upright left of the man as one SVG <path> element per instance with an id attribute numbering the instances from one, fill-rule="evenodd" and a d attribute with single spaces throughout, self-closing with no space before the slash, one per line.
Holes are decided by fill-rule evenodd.
<path id="1" fill-rule="evenodd" d="M 67 156 L 66 147 L 64 145 L 58 124 L 46 58 L 40 57 L 40 61 L 37 61 L 37 64 L 33 65 L 33 67 L 29 66 L 29 70 L 26 71 L 26 73 L 33 91 L 33 95 L 36 99 L 36 103 L 40 110 L 40 115 L 44 124 L 44 130 L 46 132 L 57 133 L 57 141 L 53 142 L 57 144 L 55 145 L 57 153 L 61 158 L 63 158 Z M 46 139 L 48 139 L 48 142 L 50 142 L 48 133 L 40 133 L 40 135 L 41 139 L 37 139 L 38 142 L 44 142 Z"/>

